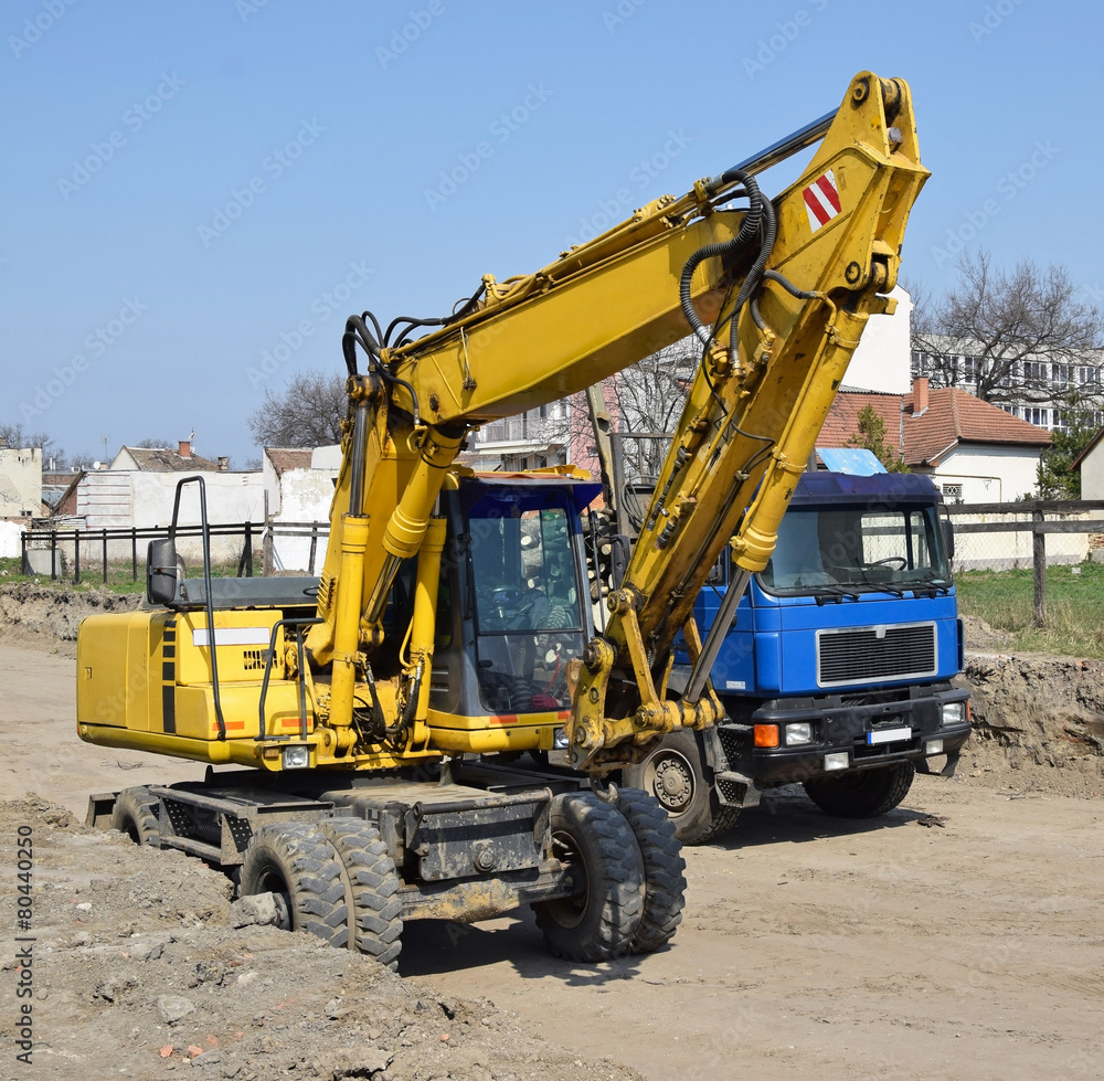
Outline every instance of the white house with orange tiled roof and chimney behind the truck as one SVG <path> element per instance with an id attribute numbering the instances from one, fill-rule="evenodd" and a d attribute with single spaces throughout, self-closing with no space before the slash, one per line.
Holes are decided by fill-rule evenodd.
<path id="1" fill-rule="evenodd" d="M 885 442 L 913 473 L 930 474 L 947 499 L 1009 502 L 1036 490 L 1050 433 L 953 386 L 913 380 L 909 394 L 840 391 L 817 439 L 847 446 L 870 406 Z"/>

